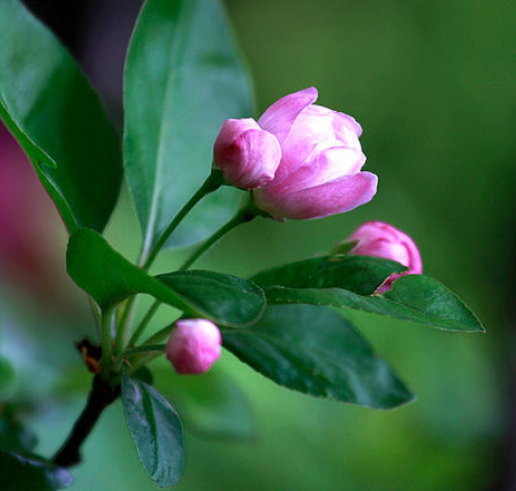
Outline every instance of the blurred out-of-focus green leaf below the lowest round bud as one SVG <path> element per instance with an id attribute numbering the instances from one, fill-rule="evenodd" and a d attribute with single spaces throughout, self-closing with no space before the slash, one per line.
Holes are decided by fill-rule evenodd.
<path id="1" fill-rule="evenodd" d="M 152 367 L 156 387 L 181 412 L 185 428 L 205 438 L 249 439 L 252 408 L 234 380 L 216 364 L 208 373 L 185 377 L 163 361 Z"/>

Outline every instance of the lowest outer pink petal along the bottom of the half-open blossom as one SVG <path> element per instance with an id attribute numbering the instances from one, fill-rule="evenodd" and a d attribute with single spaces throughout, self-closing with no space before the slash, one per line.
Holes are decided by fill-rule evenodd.
<path id="1" fill-rule="evenodd" d="M 320 186 L 287 194 L 267 209 L 275 218 L 306 220 L 350 211 L 376 194 L 378 178 L 360 172 Z M 257 200 L 259 206 L 259 201 Z"/>

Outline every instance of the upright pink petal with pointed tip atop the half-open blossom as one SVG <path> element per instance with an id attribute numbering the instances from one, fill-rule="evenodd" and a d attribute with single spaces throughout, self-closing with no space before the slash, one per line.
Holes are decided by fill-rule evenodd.
<path id="1" fill-rule="evenodd" d="M 286 95 L 272 104 L 263 113 L 258 120 L 258 124 L 264 130 L 274 134 L 281 144 L 287 138 L 294 121 L 301 111 L 315 102 L 317 95 L 315 87 L 309 87 L 308 89 Z"/>

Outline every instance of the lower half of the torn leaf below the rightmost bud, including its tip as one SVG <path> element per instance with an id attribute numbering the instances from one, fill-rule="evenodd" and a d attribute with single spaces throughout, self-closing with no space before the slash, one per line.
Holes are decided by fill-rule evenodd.
<path id="1" fill-rule="evenodd" d="M 422 275 L 401 276 L 382 295 L 362 296 L 342 288 L 265 289 L 271 304 L 331 305 L 425 324 L 445 331 L 485 332 L 475 314 L 444 285 Z"/>

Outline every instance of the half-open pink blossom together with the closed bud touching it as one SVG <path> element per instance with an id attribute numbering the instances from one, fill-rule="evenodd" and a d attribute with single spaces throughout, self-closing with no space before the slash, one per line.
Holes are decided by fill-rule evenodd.
<path id="1" fill-rule="evenodd" d="M 253 189 L 255 204 L 277 219 L 321 218 L 352 210 L 376 193 L 362 172 L 362 128 L 346 114 L 315 105 L 310 87 L 270 106 L 258 122 L 229 119 L 214 163 L 234 186 Z"/>

